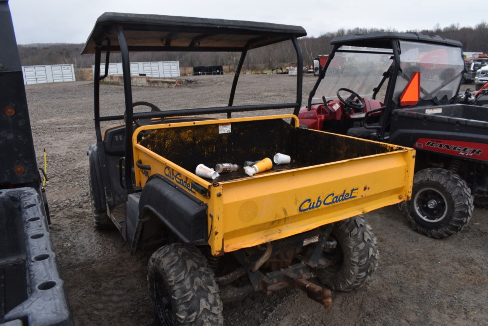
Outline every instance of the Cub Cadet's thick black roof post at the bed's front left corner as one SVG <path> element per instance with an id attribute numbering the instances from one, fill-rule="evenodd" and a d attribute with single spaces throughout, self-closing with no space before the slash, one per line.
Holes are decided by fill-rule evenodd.
<path id="1" fill-rule="evenodd" d="M 117 25 L 117 36 L 121 47 L 123 90 L 125 97 L 125 189 L 132 193 L 132 85 L 130 81 L 129 48 L 121 25 Z"/>

